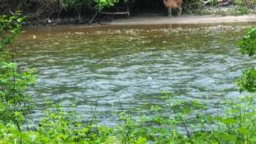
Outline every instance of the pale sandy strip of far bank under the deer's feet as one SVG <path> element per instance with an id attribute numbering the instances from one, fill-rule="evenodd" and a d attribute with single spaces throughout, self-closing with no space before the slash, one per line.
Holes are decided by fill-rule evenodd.
<path id="1" fill-rule="evenodd" d="M 135 17 L 113 20 L 107 25 L 158 25 L 158 24 L 196 24 L 196 23 L 256 23 L 256 15 L 215 16 L 182 15 L 181 17 Z"/>

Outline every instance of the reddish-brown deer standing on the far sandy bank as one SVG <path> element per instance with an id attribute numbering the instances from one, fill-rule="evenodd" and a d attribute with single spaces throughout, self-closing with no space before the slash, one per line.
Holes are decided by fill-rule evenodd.
<path id="1" fill-rule="evenodd" d="M 182 12 L 182 3 L 183 1 L 182 0 L 163 0 L 164 4 L 165 4 L 165 7 L 167 8 L 168 10 L 168 16 L 170 18 L 172 18 L 172 9 L 173 8 L 178 8 L 179 12 L 178 12 L 178 17 L 181 15 L 181 12 Z"/>

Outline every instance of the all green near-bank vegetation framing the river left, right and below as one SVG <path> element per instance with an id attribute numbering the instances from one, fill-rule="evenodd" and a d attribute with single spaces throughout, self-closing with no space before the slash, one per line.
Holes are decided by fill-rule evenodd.
<path id="1" fill-rule="evenodd" d="M 89 122 L 81 123 L 75 112 L 48 105 L 38 126 L 29 126 L 34 104 L 26 88 L 34 82 L 33 70 L 20 72 L 12 41 L 25 18 L 16 12 L 0 17 L 0 143 L 256 143 L 256 70 L 244 71 L 237 80 L 240 91 L 251 94 L 222 99 L 214 110 L 195 100 L 178 100 L 170 93 L 168 105 L 151 105 L 151 115 L 141 108 L 134 117 L 123 110 L 116 127 L 100 126 L 92 110 Z M 249 29 L 238 43 L 241 53 L 254 56 L 256 29 Z M 96 110 L 96 109 L 95 109 Z"/>

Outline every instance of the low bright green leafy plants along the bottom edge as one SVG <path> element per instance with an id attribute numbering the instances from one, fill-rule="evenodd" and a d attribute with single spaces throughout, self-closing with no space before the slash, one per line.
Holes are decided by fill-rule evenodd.
<path id="1" fill-rule="evenodd" d="M 169 107 L 154 105 L 154 116 L 140 115 L 138 119 L 121 111 L 124 123 L 116 128 L 80 124 L 54 106 L 45 111 L 34 131 L 19 132 L 13 124 L 0 123 L 0 143 L 256 143 L 255 98 L 229 100 L 224 107 L 218 106 L 216 115 L 207 115 L 206 107 L 199 102 L 179 101 L 173 105 L 175 99 L 165 94 Z"/>

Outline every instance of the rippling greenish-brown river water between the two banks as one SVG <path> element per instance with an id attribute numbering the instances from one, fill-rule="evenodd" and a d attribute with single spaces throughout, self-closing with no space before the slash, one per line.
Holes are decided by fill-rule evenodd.
<path id="1" fill-rule="evenodd" d="M 48 98 L 66 108 L 75 102 L 85 119 L 98 102 L 99 121 L 111 124 L 119 99 L 126 110 L 145 103 L 165 105 L 161 91 L 214 108 L 224 97 L 239 95 L 234 80 L 256 63 L 238 53 L 243 31 L 65 31 L 38 33 L 35 39 L 28 32 L 16 45 L 20 66 L 36 68 L 37 83 L 29 89 L 37 102 L 34 118 Z"/>

